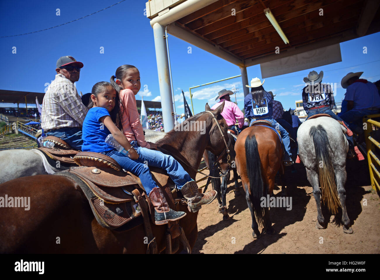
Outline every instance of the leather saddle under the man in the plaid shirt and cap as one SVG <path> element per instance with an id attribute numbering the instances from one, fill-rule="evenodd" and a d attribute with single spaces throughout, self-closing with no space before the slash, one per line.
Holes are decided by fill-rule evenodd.
<path id="1" fill-rule="evenodd" d="M 45 137 L 42 142 L 50 141 L 55 145 L 53 148 L 41 147 L 38 150 L 42 151 L 46 156 L 50 157 L 53 161 L 60 161 L 67 164 L 75 164 L 74 159 L 72 158 L 74 155 L 79 153 L 80 151 L 74 150 L 70 147 L 68 143 L 63 141 L 62 139 L 54 136 Z"/>

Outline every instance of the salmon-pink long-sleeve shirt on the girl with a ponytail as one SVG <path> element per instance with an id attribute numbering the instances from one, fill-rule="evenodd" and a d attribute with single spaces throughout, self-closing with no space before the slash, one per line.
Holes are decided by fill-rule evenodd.
<path id="1" fill-rule="evenodd" d="M 123 89 L 120 91 L 120 100 L 125 108 L 121 117 L 123 134 L 129 142 L 136 140 L 139 146 L 150 149 L 150 145 L 145 141 L 139 112 L 137 111 L 135 94 L 130 89 Z"/>

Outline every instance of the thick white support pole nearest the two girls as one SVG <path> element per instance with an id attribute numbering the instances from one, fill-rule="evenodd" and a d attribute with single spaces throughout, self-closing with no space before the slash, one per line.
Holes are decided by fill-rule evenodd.
<path id="1" fill-rule="evenodd" d="M 158 83 L 160 85 L 162 119 L 165 132 L 174 128 L 173 99 L 169 79 L 169 64 L 166 50 L 165 27 L 157 22 L 153 25 L 154 45 L 156 50 Z"/>

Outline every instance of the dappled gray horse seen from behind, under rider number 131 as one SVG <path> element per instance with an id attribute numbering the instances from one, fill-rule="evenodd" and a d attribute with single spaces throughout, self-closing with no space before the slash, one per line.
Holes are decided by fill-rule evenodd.
<path id="1" fill-rule="evenodd" d="M 345 127 L 335 119 L 321 116 L 308 119 L 298 129 L 299 157 L 306 167 L 307 179 L 313 187 L 317 203 L 317 229 L 324 229 L 327 222 L 321 212 L 321 199 L 331 213 L 342 207 L 342 223 L 345 233 L 353 233 L 346 210 L 347 179 L 346 158 L 348 142 Z M 338 197 L 339 194 L 339 197 Z"/>

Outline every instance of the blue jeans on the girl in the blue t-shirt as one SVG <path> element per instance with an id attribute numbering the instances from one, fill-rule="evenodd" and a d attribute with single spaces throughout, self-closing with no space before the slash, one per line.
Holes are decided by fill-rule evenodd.
<path id="1" fill-rule="evenodd" d="M 104 154 L 106 156 L 112 157 L 123 169 L 139 177 L 142 186 L 144 186 L 144 189 L 148 196 L 149 192 L 152 191 L 153 188 L 158 188 L 156 182 L 153 180 L 152 175 L 150 174 L 147 165 L 138 162 L 138 160 L 134 161 L 133 159 L 130 159 L 128 156 L 125 156 L 116 150 L 106 151 Z"/>

